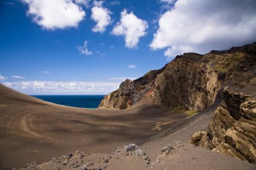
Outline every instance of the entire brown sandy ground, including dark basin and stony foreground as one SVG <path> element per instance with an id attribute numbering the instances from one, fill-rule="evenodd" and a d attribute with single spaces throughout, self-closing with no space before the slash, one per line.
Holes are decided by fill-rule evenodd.
<path id="1" fill-rule="evenodd" d="M 217 99 L 187 119 L 155 108 L 149 99 L 129 110 L 86 110 L 0 85 L 0 169 L 32 161 L 37 165 L 26 169 L 256 169 L 251 163 L 187 144 L 194 132 L 207 127 L 219 104 Z M 177 140 L 183 142 L 173 144 Z M 117 148 L 129 143 L 141 145 L 145 153 L 140 148 Z M 161 151 L 166 144 L 173 144 L 168 153 Z M 59 158 L 51 161 L 53 157 Z"/>

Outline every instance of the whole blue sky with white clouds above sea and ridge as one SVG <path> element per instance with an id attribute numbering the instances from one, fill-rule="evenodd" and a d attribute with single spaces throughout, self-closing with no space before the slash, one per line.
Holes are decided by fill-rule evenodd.
<path id="1" fill-rule="evenodd" d="M 0 83 L 108 94 L 178 54 L 256 40 L 254 0 L 1 0 Z"/>

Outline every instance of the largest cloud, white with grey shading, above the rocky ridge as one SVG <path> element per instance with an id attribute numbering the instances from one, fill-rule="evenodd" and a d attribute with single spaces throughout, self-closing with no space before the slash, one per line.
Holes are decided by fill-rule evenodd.
<path id="1" fill-rule="evenodd" d="M 256 1 L 179 0 L 158 22 L 150 44 L 168 48 L 169 58 L 183 52 L 204 54 L 256 40 Z"/>

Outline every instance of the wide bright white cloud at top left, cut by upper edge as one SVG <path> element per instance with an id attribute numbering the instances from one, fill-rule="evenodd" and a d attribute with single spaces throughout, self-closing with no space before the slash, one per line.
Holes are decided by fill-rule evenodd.
<path id="1" fill-rule="evenodd" d="M 22 0 L 28 4 L 27 15 L 46 30 L 77 27 L 86 13 L 71 0 Z"/>

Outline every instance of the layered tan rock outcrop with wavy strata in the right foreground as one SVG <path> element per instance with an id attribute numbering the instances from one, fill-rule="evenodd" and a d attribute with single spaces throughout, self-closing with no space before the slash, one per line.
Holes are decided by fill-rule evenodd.
<path id="1" fill-rule="evenodd" d="M 195 133 L 190 142 L 256 163 L 256 91 L 225 87 L 223 93 L 207 131 Z"/>

